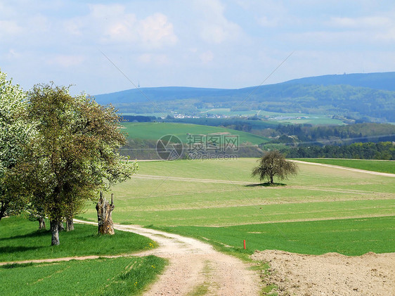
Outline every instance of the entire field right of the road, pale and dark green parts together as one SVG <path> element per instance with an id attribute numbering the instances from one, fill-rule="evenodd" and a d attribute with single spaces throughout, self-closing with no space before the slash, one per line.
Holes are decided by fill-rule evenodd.
<path id="1" fill-rule="evenodd" d="M 113 217 L 233 247 L 247 239 L 259 250 L 394 251 L 394 178 L 301 164 L 286 185 L 261 186 L 250 176 L 255 164 L 252 158 L 139 162 L 136 177 L 112 188 Z M 95 214 L 90 207 L 83 216 Z M 371 243 L 358 243 L 364 233 Z"/>

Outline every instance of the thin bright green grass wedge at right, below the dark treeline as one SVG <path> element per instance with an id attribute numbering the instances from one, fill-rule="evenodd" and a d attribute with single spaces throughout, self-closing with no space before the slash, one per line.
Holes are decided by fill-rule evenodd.
<path id="1" fill-rule="evenodd" d="M 394 160 L 345 160 L 328 158 L 298 158 L 305 162 L 317 162 L 327 165 L 339 165 L 342 167 L 352 167 L 354 169 L 365 169 L 373 172 L 395 174 Z"/>

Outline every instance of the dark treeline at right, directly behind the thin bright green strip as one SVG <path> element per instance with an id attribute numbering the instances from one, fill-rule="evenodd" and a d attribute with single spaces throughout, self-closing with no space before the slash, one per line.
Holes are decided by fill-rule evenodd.
<path id="1" fill-rule="evenodd" d="M 289 158 L 354 158 L 363 160 L 395 160 L 394 142 L 353 143 L 346 146 L 309 146 L 285 151 Z"/>

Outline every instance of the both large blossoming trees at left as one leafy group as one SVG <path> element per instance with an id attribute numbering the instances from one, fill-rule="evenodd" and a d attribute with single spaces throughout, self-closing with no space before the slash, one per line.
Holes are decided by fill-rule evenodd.
<path id="1" fill-rule="evenodd" d="M 52 245 L 59 225 L 86 200 L 134 174 L 123 161 L 126 143 L 112 106 L 70 95 L 69 87 L 39 84 L 25 93 L 0 72 L 0 219 L 29 210 L 48 217 Z"/>

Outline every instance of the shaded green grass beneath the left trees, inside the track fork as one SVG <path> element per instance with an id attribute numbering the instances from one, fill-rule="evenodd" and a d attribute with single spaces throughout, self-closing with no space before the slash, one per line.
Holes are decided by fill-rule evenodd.
<path id="1" fill-rule="evenodd" d="M 37 228 L 38 222 L 22 217 L 1 219 L 0 262 L 130 254 L 156 245 L 153 240 L 135 233 L 115 231 L 115 236 L 98 236 L 96 226 L 75 224 L 75 231 L 60 233 L 60 245 L 51 246 L 51 232 Z"/>

